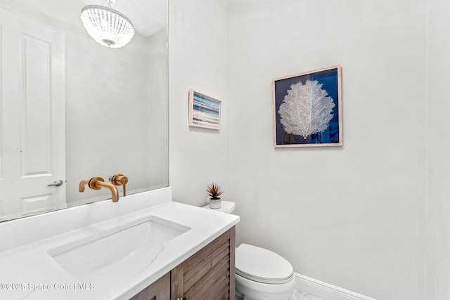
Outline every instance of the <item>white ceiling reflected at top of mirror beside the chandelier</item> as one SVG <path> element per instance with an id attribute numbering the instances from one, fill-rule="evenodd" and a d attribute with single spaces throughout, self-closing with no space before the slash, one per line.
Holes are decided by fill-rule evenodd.
<path id="1" fill-rule="evenodd" d="M 86 4 L 103 4 L 103 0 L 82 0 Z M 126 15 L 134 30 L 144 37 L 166 27 L 167 0 L 116 0 L 113 8 Z"/>

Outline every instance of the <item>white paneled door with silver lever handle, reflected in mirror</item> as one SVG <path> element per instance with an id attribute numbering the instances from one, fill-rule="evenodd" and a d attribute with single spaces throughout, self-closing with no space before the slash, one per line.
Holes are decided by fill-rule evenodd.
<path id="1" fill-rule="evenodd" d="M 1 219 L 65 207 L 65 66 L 60 32 L 1 9 L 0 26 Z"/>

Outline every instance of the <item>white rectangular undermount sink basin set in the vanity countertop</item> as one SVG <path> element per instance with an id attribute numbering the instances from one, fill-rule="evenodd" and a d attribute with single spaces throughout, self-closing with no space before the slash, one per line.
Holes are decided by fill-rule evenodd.
<path id="1" fill-rule="evenodd" d="M 164 249 L 164 244 L 191 228 L 156 216 L 99 230 L 49 250 L 50 256 L 71 275 L 93 275 L 111 268 L 139 272 Z"/>

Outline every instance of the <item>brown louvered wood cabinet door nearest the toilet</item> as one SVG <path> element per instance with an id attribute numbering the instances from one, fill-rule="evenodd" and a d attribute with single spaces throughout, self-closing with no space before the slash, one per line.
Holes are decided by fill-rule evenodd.
<path id="1" fill-rule="evenodd" d="M 234 300 L 235 247 L 233 227 L 174 268 L 172 300 Z"/>

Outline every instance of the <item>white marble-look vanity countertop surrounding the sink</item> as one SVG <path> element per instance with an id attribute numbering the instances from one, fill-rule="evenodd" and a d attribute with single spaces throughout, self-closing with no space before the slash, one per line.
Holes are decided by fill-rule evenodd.
<path id="1" fill-rule="evenodd" d="M 185 232 L 162 244 L 158 251 L 148 252 L 142 265 L 135 261 L 133 270 L 137 271 L 130 271 L 129 263 L 119 263 L 74 275 L 51 256 L 52 249 L 147 216 L 177 223 Z M 239 217 L 233 214 L 171 201 L 9 249 L 0 253 L 0 298 L 129 299 L 238 222 Z M 102 257 L 102 253 L 96 255 Z"/>

